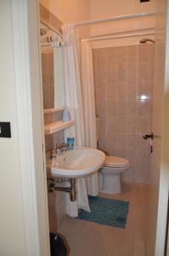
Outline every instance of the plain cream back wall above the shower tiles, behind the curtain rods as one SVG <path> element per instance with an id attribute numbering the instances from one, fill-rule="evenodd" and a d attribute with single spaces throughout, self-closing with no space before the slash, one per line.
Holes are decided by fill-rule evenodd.
<path id="1" fill-rule="evenodd" d="M 155 10 L 155 0 L 139 3 L 138 0 L 91 0 L 91 19 L 103 19 L 116 15 L 133 15 Z M 155 17 L 137 18 L 100 23 L 91 27 L 92 36 L 106 35 L 115 32 L 131 32 L 142 28 L 155 28 Z M 138 44 L 138 38 L 113 39 L 93 42 L 93 48 L 112 47 L 116 45 Z M 149 36 L 154 38 L 154 36 Z"/>

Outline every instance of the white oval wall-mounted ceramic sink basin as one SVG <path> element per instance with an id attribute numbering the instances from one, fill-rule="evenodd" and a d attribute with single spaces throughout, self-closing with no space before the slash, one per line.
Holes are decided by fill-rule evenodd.
<path id="1" fill-rule="evenodd" d="M 99 170 L 105 155 L 95 148 L 75 148 L 59 155 L 51 165 L 52 177 L 86 177 Z"/>

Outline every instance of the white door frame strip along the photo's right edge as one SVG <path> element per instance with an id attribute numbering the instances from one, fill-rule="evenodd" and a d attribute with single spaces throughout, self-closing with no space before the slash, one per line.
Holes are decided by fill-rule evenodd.
<path id="1" fill-rule="evenodd" d="M 169 195 L 169 0 L 166 0 L 166 60 L 164 74 L 163 125 L 161 138 L 161 173 L 159 187 L 159 206 L 155 241 L 155 256 L 164 255 Z"/>

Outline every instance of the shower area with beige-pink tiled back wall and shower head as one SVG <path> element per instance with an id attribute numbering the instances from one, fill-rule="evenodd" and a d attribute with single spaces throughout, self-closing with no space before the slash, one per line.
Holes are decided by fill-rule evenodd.
<path id="1" fill-rule="evenodd" d="M 155 71 L 155 16 L 93 20 L 91 36 L 97 145 L 105 154 L 130 161 L 127 183 L 148 183 Z"/>

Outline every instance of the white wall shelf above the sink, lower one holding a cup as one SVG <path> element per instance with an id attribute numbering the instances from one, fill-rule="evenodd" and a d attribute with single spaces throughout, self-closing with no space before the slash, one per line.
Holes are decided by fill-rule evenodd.
<path id="1" fill-rule="evenodd" d="M 54 134 L 57 131 L 62 131 L 62 130 L 67 129 L 72 125 L 75 125 L 74 120 L 70 120 L 69 122 L 65 122 L 65 123 L 59 121 L 59 122 L 55 122 L 55 123 L 45 125 L 44 126 L 44 131 L 45 131 L 46 135 Z"/>

